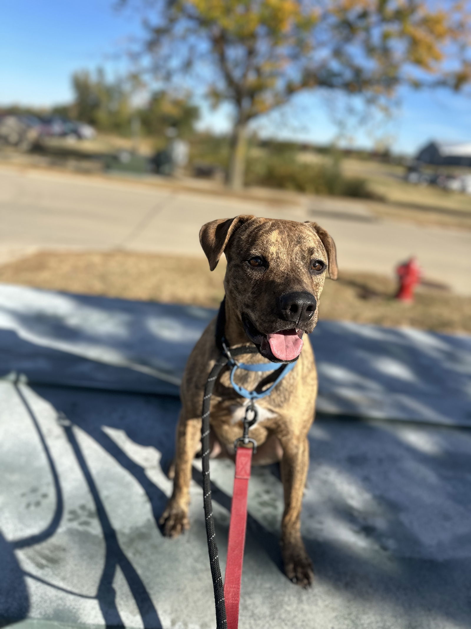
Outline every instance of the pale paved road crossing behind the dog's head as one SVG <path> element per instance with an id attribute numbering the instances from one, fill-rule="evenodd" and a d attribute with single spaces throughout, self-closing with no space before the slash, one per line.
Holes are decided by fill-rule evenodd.
<path id="1" fill-rule="evenodd" d="M 390 274 L 399 260 L 416 254 L 426 276 L 471 294 L 471 231 L 376 220 L 361 203 L 338 199 L 273 207 L 11 167 L 0 167 L 0 261 L 55 247 L 202 255 L 200 226 L 239 213 L 317 220 L 337 242 L 344 269 Z"/>

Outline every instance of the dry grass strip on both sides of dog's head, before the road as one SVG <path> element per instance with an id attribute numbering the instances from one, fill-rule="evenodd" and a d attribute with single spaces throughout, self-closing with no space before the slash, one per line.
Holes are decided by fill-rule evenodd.
<path id="1" fill-rule="evenodd" d="M 44 289 L 216 307 L 224 294 L 224 264 L 131 252 L 41 252 L 0 266 L 0 282 Z M 471 298 L 421 287 L 416 301 L 393 299 L 395 284 L 374 274 L 342 273 L 327 281 L 323 319 L 471 333 Z"/>

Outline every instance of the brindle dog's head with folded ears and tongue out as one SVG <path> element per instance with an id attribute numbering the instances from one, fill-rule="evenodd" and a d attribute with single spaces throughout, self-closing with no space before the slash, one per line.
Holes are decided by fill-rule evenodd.
<path id="1" fill-rule="evenodd" d="M 276 362 L 296 360 L 303 333 L 317 323 L 326 273 L 337 279 L 327 231 L 317 223 L 236 216 L 203 225 L 200 242 L 211 270 L 225 253 L 227 301 L 259 352 Z"/>

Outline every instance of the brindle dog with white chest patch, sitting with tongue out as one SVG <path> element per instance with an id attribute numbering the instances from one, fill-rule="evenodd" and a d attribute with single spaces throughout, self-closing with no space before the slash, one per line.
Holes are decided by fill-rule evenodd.
<path id="1" fill-rule="evenodd" d="M 317 223 L 255 216 L 207 223 L 201 228 L 200 242 L 210 270 L 215 269 L 222 253 L 227 258 L 225 337 L 230 347 L 254 343 L 263 359 L 297 361 L 273 392 L 257 402 L 258 421 L 250 436 L 257 442 L 254 465 L 281 461 L 284 570 L 291 581 L 306 587 L 313 579 L 313 571 L 301 539 L 300 516 L 317 372 L 306 337 L 303 345 L 303 333 L 313 331 L 317 323 L 327 269 L 332 279 L 337 278 L 335 243 Z M 243 360 L 261 362 L 259 354 L 244 355 Z M 192 460 L 200 447 L 203 390 L 218 357 L 214 320 L 193 349 L 181 385 L 173 494 L 161 518 L 163 531 L 169 537 L 189 526 L 190 479 Z M 267 376 L 239 370 L 237 380 L 251 390 L 263 387 Z M 247 400 L 230 386 L 229 369 L 224 369 L 211 401 L 212 457 L 234 457 L 234 441 L 242 436 L 246 404 Z"/>

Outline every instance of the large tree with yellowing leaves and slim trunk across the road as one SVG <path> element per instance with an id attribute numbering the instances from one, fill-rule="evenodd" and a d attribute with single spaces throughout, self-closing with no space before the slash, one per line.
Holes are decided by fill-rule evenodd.
<path id="1" fill-rule="evenodd" d="M 470 84 L 467 0 L 143 0 L 142 11 L 141 52 L 159 79 L 193 76 L 215 105 L 232 105 L 234 188 L 244 181 L 247 125 L 296 92 L 384 104 L 403 85 Z"/>

